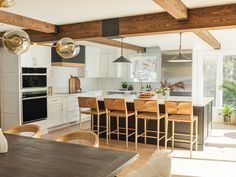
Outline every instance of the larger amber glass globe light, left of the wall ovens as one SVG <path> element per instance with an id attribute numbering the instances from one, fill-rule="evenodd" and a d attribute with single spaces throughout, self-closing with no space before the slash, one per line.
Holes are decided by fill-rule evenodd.
<path id="1" fill-rule="evenodd" d="M 25 53 L 30 47 L 29 35 L 23 30 L 9 30 L 0 39 L 3 47 L 15 55 Z"/>

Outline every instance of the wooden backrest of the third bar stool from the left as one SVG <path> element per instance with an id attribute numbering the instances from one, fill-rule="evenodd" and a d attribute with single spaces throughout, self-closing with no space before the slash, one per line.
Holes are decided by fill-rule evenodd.
<path id="1" fill-rule="evenodd" d="M 157 100 L 135 99 L 134 109 L 136 112 L 155 112 L 159 113 L 159 104 Z"/>

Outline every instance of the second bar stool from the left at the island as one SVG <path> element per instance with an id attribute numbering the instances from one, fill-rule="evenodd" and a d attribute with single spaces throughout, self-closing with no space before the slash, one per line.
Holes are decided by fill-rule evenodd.
<path id="1" fill-rule="evenodd" d="M 129 137 L 135 134 L 134 129 L 129 128 L 128 119 L 130 116 L 134 116 L 133 111 L 127 110 L 127 105 L 125 99 L 119 98 L 104 98 L 106 116 L 107 116 L 107 145 L 108 141 L 111 138 L 111 134 L 117 135 L 117 140 L 119 140 L 119 135 L 125 135 L 126 138 L 126 148 L 129 146 Z M 116 117 L 116 129 L 111 131 L 111 117 Z M 119 126 L 120 118 L 125 119 L 125 127 Z M 125 130 L 125 133 L 120 130 Z M 132 133 L 129 133 L 129 130 Z"/>

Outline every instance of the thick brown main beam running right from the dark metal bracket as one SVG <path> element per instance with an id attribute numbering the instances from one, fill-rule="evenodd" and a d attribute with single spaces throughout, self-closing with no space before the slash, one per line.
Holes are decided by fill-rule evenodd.
<path id="1" fill-rule="evenodd" d="M 122 17 L 119 34 L 126 37 L 235 28 L 236 4 L 189 9 L 188 17 L 176 20 L 166 12 Z"/>

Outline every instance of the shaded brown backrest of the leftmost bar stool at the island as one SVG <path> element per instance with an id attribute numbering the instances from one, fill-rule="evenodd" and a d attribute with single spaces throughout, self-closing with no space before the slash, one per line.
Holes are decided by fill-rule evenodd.
<path id="1" fill-rule="evenodd" d="M 98 110 L 98 100 L 95 97 L 78 97 L 80 108 L 91 108 Z"/>

